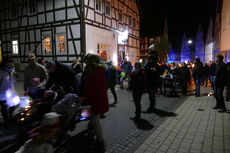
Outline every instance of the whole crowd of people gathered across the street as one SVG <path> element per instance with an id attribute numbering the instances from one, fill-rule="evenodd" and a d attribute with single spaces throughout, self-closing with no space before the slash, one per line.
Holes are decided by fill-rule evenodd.
<path id="1" fill-rule="evenodd" d="M 199 58 L 195 63 L 175 63 L 166 65 L 158 63 L 157 51 L 150 51 L 144 62 L 136 62 L 134 67 L 127 59 L 116 66 L 111 61 L 104 62 L 95 54 L 87 54 L 84 64 L 74 59 L 71 66 L 55 61 L 37 60 L 36 56 L 29 52 L 28 66 L 24 70 L 24 91 L 31 93 L 31 97 L 42 98 L 45 90 L 57 90 L 59 94 L 77 93 L 78 100 L 84 105 L 90 105 L 92 123 L 98 143 L 103 144 L 103 132 L 100 117 L 109 111 L 107 91 L 111 90 L 114 102 L 118 103 L 115 86 L 120 85 L 124 89 L 124 81 L 127 80 L 127 90 L 132 92 L 135 104 L 134 120 L 141 119 L 141 98 L 148 93 L 149 107 L 146 113 L 155 110 L 155 94 L 162 93 L 162 80 L 166 74 L 173 76 L 173 81 L 180 84 L 182 93 L 186 95 L 188 83 L 194 80 L 195 96 L 200 96 L 200 86 L 208 86 L 210 80 L 214 90 L 216 106 L 219 112 L 226 112 L 224 102 L 224 88 L 227 86 L 226 99 L 230 98 L 230 63 L 223 62 L 223 56 L 218 55 L 217 61 L 203 64 Z M 0 103 L 1 113 L 6 127 L 9 126 L 13 107 L 9 107 L 7 91 L 15 90 L 15 71 L 13 60 L 4 57 L 0 69 Z M 8 108 L 9 107 L 9 108 Z"/>

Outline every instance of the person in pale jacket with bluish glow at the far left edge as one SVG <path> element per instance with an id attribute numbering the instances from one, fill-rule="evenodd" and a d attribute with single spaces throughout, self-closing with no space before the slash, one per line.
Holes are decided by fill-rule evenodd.
<path id="1" fill-rule="evenodd" d="M 14 62 L 9 57 L 3 57 L 0 65 L 0 104 L 1 113 L 5 122 L 5 127 L 8 127 L 13 107 L 10 107 L 8 112 L 7 97 L 6 93 L 8 90 L 14 88 Z"/>

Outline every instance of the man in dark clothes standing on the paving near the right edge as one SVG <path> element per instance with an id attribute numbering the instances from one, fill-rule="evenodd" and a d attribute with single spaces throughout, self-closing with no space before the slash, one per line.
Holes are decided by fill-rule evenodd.
<path id="1" fill-rule="evenodd" d="M 227 67 L 223 62 L 224 57 L 222 55 L 218 55 L 216 58 L 217 62 L 217 70 L 216 70 L 216 78 L 215 78 L 215 98 L 216 98 L 216 106 L 213 109 L 218 109 L 218 112 L 227 112 L 225 102 L 224 102 L 224 87 L 226 85 L 226 74 Z"/>

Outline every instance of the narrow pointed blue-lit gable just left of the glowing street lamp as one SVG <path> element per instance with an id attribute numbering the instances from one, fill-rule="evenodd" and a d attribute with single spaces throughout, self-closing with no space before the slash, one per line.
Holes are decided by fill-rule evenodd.
<path id="1" fill-rule="evenodd" d="M 188 46 L 186 34 L 184 33 L 182 44 L 181 44 L 181 63 L 191 61 L 191 51 Z"/>

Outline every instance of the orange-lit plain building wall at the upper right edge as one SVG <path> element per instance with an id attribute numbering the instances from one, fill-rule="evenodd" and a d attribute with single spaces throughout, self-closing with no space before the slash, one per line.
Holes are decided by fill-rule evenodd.
<path id="1" fill-rule="evenodd" d="M 223 0 L 221 17 L 220 53 L 224 55 L 225 62 L 230 61 L 230 0 Z"/>

